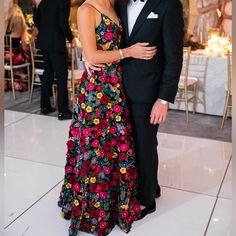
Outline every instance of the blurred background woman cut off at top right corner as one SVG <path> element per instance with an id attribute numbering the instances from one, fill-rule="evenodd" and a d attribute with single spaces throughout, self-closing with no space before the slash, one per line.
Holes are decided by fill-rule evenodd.
<path id="1" fill-rule="evenodd" d="M 223 1 L 218 26 L 225 36 L 232 38 L 232 0 Z"/>

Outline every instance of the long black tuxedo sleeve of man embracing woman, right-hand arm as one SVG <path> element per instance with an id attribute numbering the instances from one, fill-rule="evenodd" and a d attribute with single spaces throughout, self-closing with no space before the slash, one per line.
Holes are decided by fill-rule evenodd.
<path id="1" fill-rule="evenodd" d="M 184 20 L 181 2 L 169 1 L 163 17 L 164 71 L 158 97 L 174 103 L 183 61 Z"/>

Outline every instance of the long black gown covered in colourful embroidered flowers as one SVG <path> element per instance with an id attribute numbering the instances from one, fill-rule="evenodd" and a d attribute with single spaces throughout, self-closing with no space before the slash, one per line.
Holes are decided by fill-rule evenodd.
<path id="1" fill-rule="evenodd" d="M 121 25 L 102 15 L 99 50 L 117 50 Z M 84 72 L 69 130 L 65 178 L 58 205 L 78 231 L 108 235 L 117 224 L 129 232 L 140 217 L 137 170 L 120 61 L 89 76 Z"/>

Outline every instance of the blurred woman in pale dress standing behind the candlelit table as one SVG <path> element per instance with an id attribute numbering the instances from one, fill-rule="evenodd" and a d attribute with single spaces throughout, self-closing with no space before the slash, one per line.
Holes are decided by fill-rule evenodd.
<path id="1" fill-rule="evenodd" d="M 194 40 L 199 43 L 208 41 L 208 32 L 215 28 L 218 21 L 219 0 L 197 0 L 198 17 L 193 30 Z"/>

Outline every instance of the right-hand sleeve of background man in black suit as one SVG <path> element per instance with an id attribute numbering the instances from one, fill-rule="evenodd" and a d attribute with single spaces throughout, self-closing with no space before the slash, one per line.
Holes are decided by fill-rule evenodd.
<path id="1" fill-rule="evenodd" d="M 59 27 L 68 41 L 71 42 L 73 35 L 69 25 L 70 0 L 62 0 L 59 11 Z"/>

